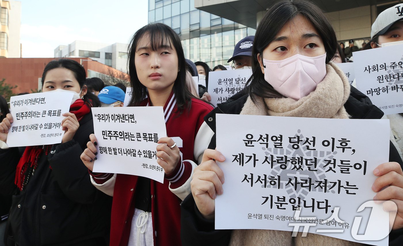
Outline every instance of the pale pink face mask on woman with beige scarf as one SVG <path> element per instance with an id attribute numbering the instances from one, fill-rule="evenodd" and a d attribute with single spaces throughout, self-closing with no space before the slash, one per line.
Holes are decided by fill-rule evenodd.
<path id="1" fill-rule="evenodd" d="M 264 79 L 278 93 L 299 100 L 326 76 L 326 53 L 317 57 L 297 54 L 281 61 L 263 59 L 263 65 Z"/>

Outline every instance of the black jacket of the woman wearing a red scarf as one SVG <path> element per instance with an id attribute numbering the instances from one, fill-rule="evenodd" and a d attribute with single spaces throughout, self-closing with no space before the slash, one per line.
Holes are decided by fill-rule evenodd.
<path id="1" fill-rule="evenodd" d="M 54 145 L 23 191 L 14 184 L 19 148 L 0 152 L 0 191 L 12 196 L 8 245 L 107 245 L 112 198 L 98 191 L 80 160 L 93 133 L 92 114 L 80 121 L 73 140 Z"/>

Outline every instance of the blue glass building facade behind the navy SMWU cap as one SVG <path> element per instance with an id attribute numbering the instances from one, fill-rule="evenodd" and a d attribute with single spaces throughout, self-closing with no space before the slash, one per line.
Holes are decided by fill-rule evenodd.
<path id="1" fill-rule="evenodd" d="M 148 23 L 161 22 L 179 34 L 185 58 L 210 68 L 231 65 L 235 44 L 256 29 L 200 11 L 194 0 L 148 0 Z"/>

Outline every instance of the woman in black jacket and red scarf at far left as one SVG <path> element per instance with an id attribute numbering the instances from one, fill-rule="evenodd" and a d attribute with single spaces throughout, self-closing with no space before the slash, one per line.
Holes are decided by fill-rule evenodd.
<path id="1" fill-rule="evenodd" d="M 108 245 L 111 199 L 93 187 L 80 160 L 93 133 L 91 107 L 100 104 L 84 82 L 83 66 L 70 59 L 49 62 L 42 74 L 44 93 L 74 92 L 70 112 L 62 114 L 61 143 L 21 153 L 7 146 L 11 114 L 0 123 L 0 191 L 13 195 L 8 246 Z"/>

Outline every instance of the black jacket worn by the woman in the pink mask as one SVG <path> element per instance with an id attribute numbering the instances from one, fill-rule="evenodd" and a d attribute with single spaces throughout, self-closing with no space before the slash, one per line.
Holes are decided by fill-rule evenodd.
<path id="1" fill-rule="evenodd" d="M 216 132 L 216 114 L 239 114 L 248 95 L 240 91 L 228 101 L 217 105 L 204 121 Z M 344 105 L 352 119 L 380 119 L 383 112 L 372 104 L 370 99 L 351 86 L 350 97 Z M 216 134 L 210 141 L 209 149 L 216 148 Z M 395 146 L 390 143 L 389 161 L 398 162 L 403 167 L 403 161 Z M 183 246 L 224 246 L 229 244 L 231 230 L 214 230 L 214 221 L 206 220 L 200 214 L 192 194 L 189 194 L 181 204 L 181 240 Z M 403 245 L 403 229 L 394 230 L 389 234 L 389 246 Z"/>

